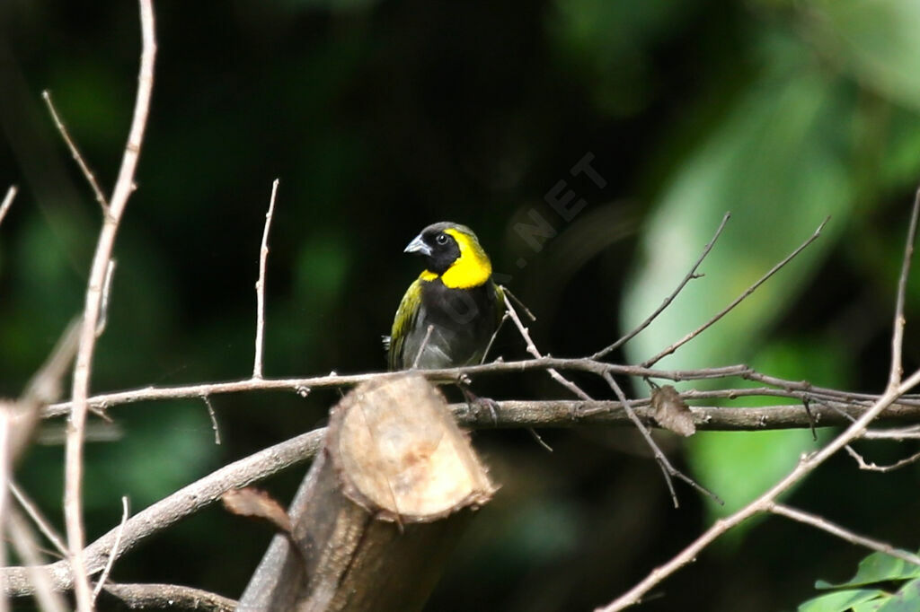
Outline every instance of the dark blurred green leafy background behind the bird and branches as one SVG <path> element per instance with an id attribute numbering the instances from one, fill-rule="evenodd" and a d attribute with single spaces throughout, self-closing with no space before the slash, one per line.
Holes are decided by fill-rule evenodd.
<path id="1" fill-rule="evenodd" d="M 658 352 L 728 303 L 822 219 L 809 251 L 663 367 L 749 362 L 855 390 L 885 381 L 891 302 L 920 181 L 920 4 L 914 0 L 553 0 L 431 3 L 157 2 L 152 115 L 117 244 L 95 391 L 247 376 L 253 283 L 275 176 L 266 373 L 383 368 L 379 336 L 419 270 L 402 247 L 424 225 L 472 226 L 539 320 L 554 355 L 584 355 L 661 303 L 726 210 L 730 224 L 665 316 L 617 360 Z M 82 308 L 98 207 L 40 100 L 52 90 L 105 186 L 131 119 L 139 34 L 131 2 L 0 5 L 0 392 L 16 395 Z M 586 153 L 604 178 L 571 176 Z M 571 190 L 564 220 L 546 202 Z M 535 217 L 536 215 L 536 217 Z M 539 250 L 515 228 L 556 234 Z M 920 316 L 911 284 L 908 320 Z M 906 367 L 918 363 L 908 327 Z M 514 334 L 500 354 L 520 357 Z M 591 386 L 591 382 L 586 381 Z M 494 397 L 564 397 L 537 375 L 478 380 Z M 599 396 L 604 391 L 593 389 Z M 644 388 L 636 388 L 644 394 Z M 113 409 L 86 450 L 95 538 L 220 465 L 322 423 L 335 393 Z M 631 430 L 482 432 L 501 483 L 431 610 L 591 609 L 772 482 L 807 432 L 661 436 L 728 501 L 682 489 L 674 510 Z M 18 478 L 60 524 L 62 424 Z M 897 459 L 908 444 L 861 445 Z M 915 450 L 915 448 L 914 448 Z M 303 469 L 266 483 L 288 499 Z M 789 502 L 920 545 L 920 468 L 880 476 L 836 458 Z M 270 534 L 209 508 L 115 565 L 115 580 L 237 596 Z M 865 552 L 773 518 L 657 589 L 649 610 L 794 609 Z M 676 602 L 679 602 L 677 604 Z M 107 604 L 114 606 L 114 604 Z M 22 609 L 30 604 L 20 602 Z"/>

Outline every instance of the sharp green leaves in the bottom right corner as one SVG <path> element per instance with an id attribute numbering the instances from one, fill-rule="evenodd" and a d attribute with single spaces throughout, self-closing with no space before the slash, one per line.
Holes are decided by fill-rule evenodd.
<path id="1" fill-rule="evenodd" d="M 914 612 L 920 609 L 920 565 L 873 552 L 859 561 L 853 578 L 839 584 L 823 580 L 815 588 L 833 590 L 799 606 L 799 612 Z M 867 588 L 871 587 L 871 588 Z"/>

